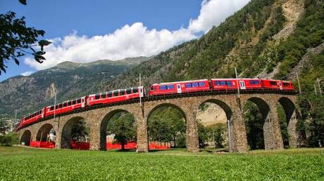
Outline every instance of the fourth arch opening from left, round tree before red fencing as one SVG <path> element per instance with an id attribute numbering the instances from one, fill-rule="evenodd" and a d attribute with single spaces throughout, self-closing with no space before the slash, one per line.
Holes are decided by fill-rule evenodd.
<path id="1" fill-rule="evenodd" d="M 135 150 L 137 147 L 135 117 L 124 109 L 116 109 L 101 121 L 100 149 Z"/>

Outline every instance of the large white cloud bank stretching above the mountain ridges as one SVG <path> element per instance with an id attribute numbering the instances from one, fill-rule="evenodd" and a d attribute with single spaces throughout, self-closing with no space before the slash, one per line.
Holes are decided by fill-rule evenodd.
<path id="1" fill-rule="evenodd" d="M 26 58 L 24 62 L 36 69 L 47 69 L 64 61 L 92 62 L 156 55 L 178 43 L 197 38 L 198 32 L 207 32 L 213 25 L 219 25 L 248 1 L 203 1 L 199 17 L 190 20 L 189 27 L 175 31 L 147 29 L 142 22 L 135 22 L 103 36 L 78 36 L 77 32 L 73 32 L 63 38 L 49 40 L 53 43 L 45 48 L 46 60 L 42 64 L 32 58 Z"/>

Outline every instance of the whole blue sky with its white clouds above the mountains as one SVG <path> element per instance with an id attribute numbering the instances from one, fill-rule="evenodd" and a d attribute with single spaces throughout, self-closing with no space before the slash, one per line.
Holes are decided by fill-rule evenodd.
<path id="1" fill-rule="evenodd" d="M 183 41 L 195 39 L 249 0 L 119 0 L 119 1 L 28 1 L 1 0 L 0 13 L 14 11 L 27 25 L 44 29 L 44 39 L 54 43 L 45 49 L 46 62 L 39 65 L 21 58 L 20 66 L 8 61 L 11 76 L 36 72 L 59 62 L 120 60 L 156 55 Z"/>

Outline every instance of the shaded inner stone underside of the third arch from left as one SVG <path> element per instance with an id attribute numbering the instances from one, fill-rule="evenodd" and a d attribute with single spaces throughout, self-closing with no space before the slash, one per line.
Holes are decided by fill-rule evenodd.
<path id="1" fill-rule="evenodd" d="M 72 140 L 71 134 L 72 134 L 73 126 L 75 125 L 75 123 L 81 120 L 85 120 L 85 119 L 81 116 L 75 116 L 69 119 L 68 121 L 66 121 L 61 133 L 61 148 L 70 149 L 70 141 Z"/>

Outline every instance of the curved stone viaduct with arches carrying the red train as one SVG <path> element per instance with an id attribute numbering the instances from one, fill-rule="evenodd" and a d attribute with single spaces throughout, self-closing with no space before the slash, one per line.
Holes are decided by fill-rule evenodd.
<path id="1" fill-rule="evenodd" d="M 46 134 L 54 128 L 56 131 L 56 148 L 69 148 L 71 130 L 77 121 L 84 119 L 90 127 L 90 149 L 106 150 L 106 127 L 109 119 L 118 112 L 130 112 L 135 117 L 137 126 L 137 147 L 139 152 L 148 152 L 148 119 L 152 112 L 159 107 L 170 106 L 182 112 L 186 121 L 186 142 L 189 152 L 199 151 L 197 112 L 199 105 L 212 102 L 223 108 L 230 121 L 230 152 L 247 152 L 247 133 L 244 125 L 243 107 L 247 101 L 254 102 L 263 115 L 263 136 L 265 149 L 283 149 L 280 121 L 277 113 L 279 102 L 285 109 L 289 146 L 299 145 L 296 131 L 299 117 L 296 106 L 297 97 L 294 94 L 281 93 L 242 93 L 238 98 L 236 93 L 218 95 L 197 95 L 188 97 L 174 97 L 160 100 L 147 99 L 142 102 L 132 102 L 125 105 L 112 105 L 98 109 L 89 109 L 41 121 L 18 130 L 20 142 L 30 140 L 46 140 Z"/>

